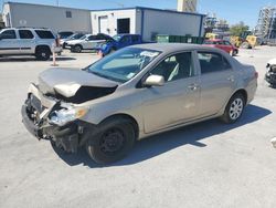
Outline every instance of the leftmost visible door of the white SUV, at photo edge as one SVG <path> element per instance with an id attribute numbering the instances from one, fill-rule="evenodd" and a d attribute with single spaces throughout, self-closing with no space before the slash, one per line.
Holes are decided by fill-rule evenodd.
<path id="1" fill-rule="evenodd" d="M 0 54 L 20 54 L 20 45 L 15 30 L 4 30 L 0 37 Z"/>

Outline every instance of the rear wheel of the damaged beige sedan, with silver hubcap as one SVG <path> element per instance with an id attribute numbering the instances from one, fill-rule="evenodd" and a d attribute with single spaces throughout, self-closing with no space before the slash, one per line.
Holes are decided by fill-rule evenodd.
<path id="1" fill-rule="evenodd" d="M 226 124 L 233 124 L 238 121 L 245 107 L 245 98 L 241 93 L 234 94 L 227 103 L 221 121 Z"/>

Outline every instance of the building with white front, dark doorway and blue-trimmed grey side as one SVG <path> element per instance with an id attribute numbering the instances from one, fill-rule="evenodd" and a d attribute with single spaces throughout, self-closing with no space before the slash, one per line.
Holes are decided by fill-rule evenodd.
<path id="1" fill-rule="evenodd" d="M 199 13 L 178 12 L 152 8 L 125 8 L 92 11 L 94 33 L 141 34 L 144 40 L 152 40 L 156 34 L 202 37 L 204 17 Z"/>

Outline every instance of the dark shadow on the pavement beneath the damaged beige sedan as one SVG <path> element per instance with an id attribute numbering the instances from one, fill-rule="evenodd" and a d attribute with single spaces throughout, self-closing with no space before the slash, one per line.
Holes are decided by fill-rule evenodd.
<path id="1" fill-rule="evenodd" d="M 235 124 L 223 124 L 217 119 L 211 119 L 194 124 L 187 127 L 181 127 L 167 133 L 151 136 L 141 142 L 138 142 L 131 153 L 123 160 L 113 164 L 112 166 L 124 166 L 140 163 L 160 154 L 174 149 L 182 145 L 194 145 L 205 147 L 204 138 L 213 135 L 222 134 L 233 128 L 242 127 L 246 124 L 256 122 L 272 112 L 255 105 L 248 105 L 243 114 L 243 117 Z M 95 164 L 86 154 L 85 149 L 79 149 L 77 154 L 64 154 L 54 147 L 56 154 L 70 166 L 83 164 L 88 167 L 103 167 Z"/>

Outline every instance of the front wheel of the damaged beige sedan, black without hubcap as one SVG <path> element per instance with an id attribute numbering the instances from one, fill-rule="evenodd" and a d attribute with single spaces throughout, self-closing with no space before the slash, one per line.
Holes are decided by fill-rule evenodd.
<path id="1" fill-rule="evenodd" d="M 124 158 L 135 144 L 135 128 L 129 119 L 107 119 L 99 124 L 98 129 L 86 143 L 89 157 L 97 164 L 110 164 Z"/>

